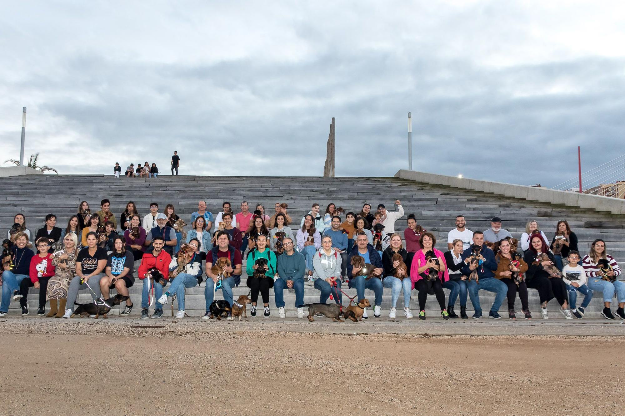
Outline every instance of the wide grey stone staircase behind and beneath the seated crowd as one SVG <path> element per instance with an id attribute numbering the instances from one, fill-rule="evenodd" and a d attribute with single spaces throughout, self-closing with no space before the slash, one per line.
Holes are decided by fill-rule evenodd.
<path id="1" fill-rule="evenodd" d="M 564 207 L 542 202 L 526 201 L 511 197 L 495 196 L 484 192 L 467 191 L 453 187 L 407 181 L 393 177 L 207 177 L 207 176 L 161 176 L 158 179 L 115 179 L 112 176 L 15 176 L 0 178 L 0 232 L 6 230 L 13 222 L 17 212 L 26 215 L 31 235 L 43 224 L 43 218 L 50 212 L 58 217 L 58 225 L 64 227 L 69 217 L 77 210 L 80 201 L 89 202 L 92 210 L 99 209 L 99 201 L 103 198 L 111 200 L 111 211 L 119 215 L 126 202 L 134 201 L 139 213 L 149 212 L 149 204 L 158 202 L 161 211 L 168 203 L 173 203 L 176 213 L 189 222 L 191 213 L 197 210 L 197 201 L 204 200 L 208 210 L 218 212 L 221 203 L 229 201 L 234 211 L 241 201 L 248 201 L 251 210 L 256 203 L 264 204 L 267 214 L 271 215 L 275 202 L 289 204 L 289 214 L 296 224 L 306 214 L 314 202 L 321 205 L 322 210 L 329 202 L 347 211 L 359 212 L 364 202 L 369 202 L 375 209 L 380 202 L 389 210 L 395 210 L 393 201 L 399 199 L 407 214 L 414 213 L 417 222 L 431 231 L 437 238 L 437 248 L 446 250 L 447 232 L 454 225 L 457 214 L 463 214 L 467 220 L 467 228 L 484 230 L 490 226 L 489 220 L 499 216 L 504 221 L 504 228 L 514 237 L 520 237 L 529 219 L 536 219 L 547 237 L 551 238 L 557 220 L 566 219 L 576 232 L 579 249 L 582 255 L 587 253 L 592 240 L 606 240 L 607 250 L 621 264 L 625 264 L 625 215 L 614 215 L 607 212 L 596 212 L 590 209 Z M 398 220 L 396 230 L 402 232 L 404 219 Z M 187 228 L 188 229 L 188 228 Z M 234 289 L 234 296 L 247 294 L 246 276 L 242 277 L 239 288 Z M 355 290 L 345 290 L 353 296 Z M 31 305 L 36 304 L 36 290 L 31 290 Z M 187 289 L 186 309 L 189 315 L 201 315 L 204 312 L 204 284 L 202 287 Z M 372 300 L 372 293 L 367 290 Z M 488 292 L 482 292 L 482 309 L 487 310 L 492 300 Z M 139 305 L 141 299 L 141 282 L 136 281 L 131 288 L 133 301 Z M 271 297 L 273 291 L 271 291 Z M 304 301 L 318 302 L 319 292 L 312 286 L 306 286 Z M 438 306 L 434 297 L 428 299 L 427 309 L 436 311 Z M 78 302 L 88 302 L 89 296 L 81 294 Z M 221 299 L 221 290 L 216 299 Z M 293 290 L 285 293 L 288 310 L 287 315 L 294 314 L 295 296 Z M 382 309 L 389 309 L 390 291 L 384 289 Z M 398 317 L 402 315 L 402 296 L 399 297 Z M 467 307 L 472 310 L 471 302 Z M 578 297 L 578 304 L 581 303 Z M 412 309 L 417 309 L 416 292 L 413 292 Z M 533 312 L 538 310 L 538 298 L 535 290 L 530 290 L 530 307 Z M 169 306 L 169 305 L 168 305 Z M 270 306 L 275 309 L 274 300 Z M 17 308 L 17 302 L 12 302 Z M 456 305 L 457 307 L 457 305 Z M 502 310 L 506 309 L 506 302 Z M 517 301 L 517 308 L 520 302 Z M 137 309 L 139 309 L 137 307 Z M 457 307 L 459 309 L 459 307 Z M 556 302 L 552 301 L 549 310 L 557 311 Z M 601 294 L 596 294 L 588 312 L 598 315 L 601 310 Z M 134 313 L 134 312 L 133 312 Z M 139 312 L 137 312 L 139 313 Z M 430 315 L 435 315 L 432 312 Z M 274 315 L 275 312 L 274 312 Z M 274 316 L 272 315 L 272 316 Z M 557 314 L 558 317 L 561 315 Z M 554 316 L 555 317 L 555 316 Z"/>

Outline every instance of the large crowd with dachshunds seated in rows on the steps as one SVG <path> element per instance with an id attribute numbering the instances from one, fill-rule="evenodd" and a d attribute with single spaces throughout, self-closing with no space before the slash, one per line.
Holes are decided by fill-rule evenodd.
<path id="1" fill-rule="evenodd" d="M 467 319 L 467 297 L 473 306 L 472 317 L 479 319 L 479 291 L 486 290 L 495 294 L 489 317 L 501 319 L 498 312 L 507 298 L 508 317 L 516 319 L 518 296 L 521 316 L 531 319 L 527 295 L 530 288 L 539 294 L 542 319 L 548 319 L 547 304 L 553 299 L 566 319 L 582 319 L 594 292 L 602 292 L 602 315 L 625 320 L 625 283 L 616 279 L 621 274 L 619 265 L 607 254 L 601 239 L 594 240 L 582 258 L 577 237 L 566 220 L 557 223 L 549 244 L 535 220 L 527 222 L 526 231 L 517 240 L 502 228 L 499 217 L 492 218 L 491 228 L 482 232 L 467 229 L 464 216 L 458 215 L 456 227 L 447 234 L 447 250 L 443 251 L 436 248 L 436 236 L 417 224 L 414 214 L 407 216 L 403 234 L 396 232 L 396 221 L 404 215 L 404 209 L 400 201 L 395 204 L 397 210 L 379 204 L 374 212 L 370 204 L 364 204 L 360 212 L 344 212 L 334 204 L 321 212 L 319 204 L 313 204 L 299 226 L 292 228 L 284 203 L 276 203 L 275 212 L 269 216 L 262 204 L 251 212 L 248 202 L 243 201 L 240 212 L 234 214 L 230 202 L 224 202 L 221 212 L 213 215 L 207 211 L 206 202 L 199 201 L 190 217 L 191 230 L 184 232 L 186 223 L 173 204 L 159 212 L 158 203 L 153 202 L 142 218 L 130 201 L 118 223 L 108 199 L 103 199 L 101 209 L 93 214 L 88 202 L 82 201 L 64 229 L 56 227 L 54 214 L 46 216 L 44 227 L 37 230 L 34 239 L 36 253 L 29 248 L 31 235 L 26 217 L 17 214 L 4 240 L 9 248 L 2 258 L 0 316 L 8 314 L 11 299 L 20 301 L 22 315 L 29 314 L 28 290 L 36 287 L 37 315 L 46 315 L 49 300 L 48 317 L 68 318 L 74 313 L 81 290 L 96 301 L 106 302 L 110 289 L 129 296 L 128 289 L 138 277 L 143 282 L 142 319 L 161 317 L 163 305 L 172 302 L 174 295 L 179 308 L 176 316 L 183 318 L 184 290 L 201 284 L 206 276 L 203 318 L 208 319 L 218 289 L 229 305 L 236 302 L 232 289 L 241 283 L 245 267 L 252 316 L 260 309 L 259 295 L 263 315 L 270 315 L 271 289 L 281 318 L 286 316 L 284 289 L 294 289 L 297 317 L 302 318 L 306 284 L 319 290 L 319 302 L 334 299 L 337 304 L 343 304 L 342 287 L 347 284 L 356 289 L 356 297 L 350 299 L 354 302 L 365 299 L 366 289 L 373 292 L 374 317 L 381 316 L 386 287 L 391 289 L 390 318 L 396 317 L 400 294 L 404 316 L 413 317 L 411 294 L 417 290 L 419 319 L 426 319 L 428 295 L 436 298 L 442 319 Z M 227 259 L 226 265 L 214 271 L 213 265 L 222 258 Z M 264 260 L 260 272 L 259 259 Z M 141 260 L 138 270 L 134 269 L 136 260 Z M 163 280 L 151 278 L 154 269 Z M 442 289 L 449 289 L 447 299 Z M 157 299 L 152 315 L 150 290 Z M 584 295 L 579 306 L 578 293 Z M 611 310 L 614 294 L 618 302 L 616 317 Z M 454 309 L 458 298 L 459 315 Z M 133 300 L 128 299 L 121 315 L 130 314 L 133 307 Z M 362 317 L 368 318 L 367 309 Z"/>

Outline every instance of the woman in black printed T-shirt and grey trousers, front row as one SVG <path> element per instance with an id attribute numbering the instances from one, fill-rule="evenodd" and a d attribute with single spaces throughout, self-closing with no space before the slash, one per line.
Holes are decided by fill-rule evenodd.
<path id="1" fill-rule="evenodd" d="M 91 219 L 93 218 L 98 218 L 98 215 L 93 215 Z M 88 232 L 86 237 L 87 247 L 80 250 L 76 257 L 76 277 L 69 282 L 68 303 L 64 318 L 71 318 L 74 314 L 74 304 L 79 290 L 89 290 L 93 300 L 102 297 L 100 279 L 104 277 L 108 255 L 106 250 L 98 247 L 98 235 L 95 232 Z"/>

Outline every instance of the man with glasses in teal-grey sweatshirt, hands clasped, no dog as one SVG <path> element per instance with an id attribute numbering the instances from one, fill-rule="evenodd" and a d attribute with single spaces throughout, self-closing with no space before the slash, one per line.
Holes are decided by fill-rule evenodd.
<path id="1" fill-rule="evenodd" d="M 284 312 L 284 289 L 295 288 L 295 305 L 297 307 L 297 317 L 304 317 L 304 270 L 306 270 L 306 260 L 304 255 L 294 250 L 291 237 L 284 237 L 282 240 L 284 252 L 277 257 L 276 270 L 277 279 L 274 282 L 274 294 L 276 295 L 276 306 L 279 317 L 286 317 Z"/>

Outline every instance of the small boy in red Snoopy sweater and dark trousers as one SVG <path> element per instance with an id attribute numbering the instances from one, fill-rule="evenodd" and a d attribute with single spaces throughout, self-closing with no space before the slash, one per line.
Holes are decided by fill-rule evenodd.
<path id="1" fill-rule="evenodd" d="M 47 252 L 50 248 L 50 242 L 46 237 L 41 237 L 35 242 L 39 253 L 32 256 L 31 267 L 29 271 L 29 277 L 22 280 L 19 284 L 19 291 L 22 294 L 22 299 L 19 300 L 19 305 L 22 307 L 22 315 L 28 315 L 28 288 L 34 287 L 39 289 L 39 309 L 37 309 L 37 316 L 43 316 L 46 314 L 46 292 L 47 281 L 54 276 L 54 265 L 52 264 L 52 254 Z"/>

